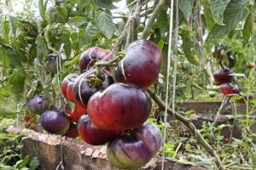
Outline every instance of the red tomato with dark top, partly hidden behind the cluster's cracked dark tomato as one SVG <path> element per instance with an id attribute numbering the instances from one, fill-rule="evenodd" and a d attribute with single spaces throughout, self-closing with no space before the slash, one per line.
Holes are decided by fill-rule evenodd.
<path id="1" fill-rule="evenodd" d="M 76 73 L 71 73 L 67 75 L 61 82 L 61 92 L 63 96 L 68 99 L 69 101 L 74 102 L 74 96 L 73 96 L 73 84 L 76 81 L 76 79 L 79 77 Z"/>

